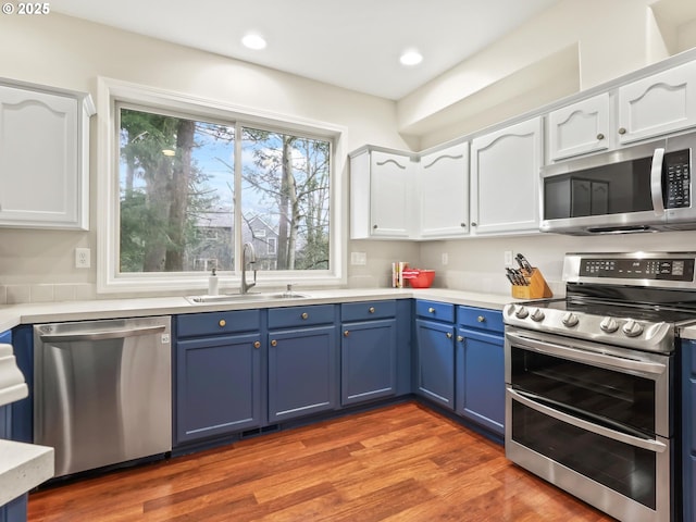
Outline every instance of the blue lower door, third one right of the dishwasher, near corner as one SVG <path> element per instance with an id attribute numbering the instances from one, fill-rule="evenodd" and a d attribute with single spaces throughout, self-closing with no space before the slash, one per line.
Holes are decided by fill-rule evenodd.
<path id="1" fill-rule="evenodd" d="M 340 403 L 396 395 L 396 319 L 344 323 L 340 340 Z"/>

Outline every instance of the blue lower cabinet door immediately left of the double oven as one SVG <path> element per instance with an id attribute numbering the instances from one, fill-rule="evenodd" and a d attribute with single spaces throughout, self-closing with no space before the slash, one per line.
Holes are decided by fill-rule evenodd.
<path id="1" fill-rule="evenodd" d="M 457 331 L 456 411 L 476 424 L 504 435 L 504 338 L 467 328 Z"/>

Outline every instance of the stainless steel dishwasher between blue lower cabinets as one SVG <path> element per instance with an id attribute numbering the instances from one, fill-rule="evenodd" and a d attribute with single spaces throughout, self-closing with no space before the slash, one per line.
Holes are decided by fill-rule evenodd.
<path id="1" fill-rule="evenodd" d="M 171 318 L 34 326 L 34 443 L 55 476 L 172 449 Z"/>

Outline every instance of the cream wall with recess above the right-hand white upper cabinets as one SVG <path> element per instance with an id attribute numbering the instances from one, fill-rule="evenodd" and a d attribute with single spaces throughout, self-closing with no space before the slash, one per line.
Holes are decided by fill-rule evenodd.
<path id="1" fill-rule="evenodd" d="M 533 104 L 540 107 L 668 58 L 680 49 L 668 49 L 661 30 L 669 32 L 671 39 L 678 35 L 672 30 L 673 22 L 657 28 L 650 9 L 655 3 L 667 4 L 662 11 L 672 17 L 685 13 L 686 20 L 693 20 L 693 0 L 559 2 L 399 100 L 399 130 L 430 134 L 434 125 L 451 124 L 447 116 L 452 111 L 475 117 L 483 128 L 530 111 Z M 686 28 L 682 39 L 687 39 Z M 531 77 L 520 83 L 519 76 L 525 72 L 535 76 L 536 83 Z M 500 105 L 501 88 L 513 104 L 495 107 Z M 464 135 L 475 128 L 462 121 L 459 128 L 452 128 L 457 130 Z M 440 133 L 438 137 L 456 136 Z M 422 138 L 421 148 L 434 145 L 432 138 Z"/>

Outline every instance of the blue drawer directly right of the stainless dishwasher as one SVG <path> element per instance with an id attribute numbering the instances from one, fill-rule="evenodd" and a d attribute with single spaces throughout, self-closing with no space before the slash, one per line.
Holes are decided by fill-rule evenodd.
<path id="1" fill-rule="evenodd" d="M 176 335 L 179 338 L 253 332 L 260 327 L 260 310 L 191 313 L 176 318 Z"/>

